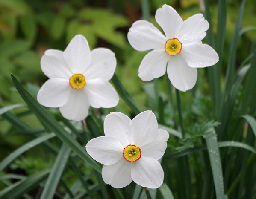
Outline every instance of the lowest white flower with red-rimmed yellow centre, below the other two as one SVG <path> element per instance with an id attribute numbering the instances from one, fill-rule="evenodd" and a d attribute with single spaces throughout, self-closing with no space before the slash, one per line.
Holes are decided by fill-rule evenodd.
<path id="1" fill-rule="evenodd" d="M 152 111 L 132 120 L 121 112 L 112 112 L 104 121 L 106 136 L 94 138 L 86 145 L 89 155 L 104 164 L 102 178 L 106 184 L 123 188 L 132 180 L 142 187 L 158 188 L 164 172 L 157 161 L 165 153 L 169 134 L 158 129 Z"/>

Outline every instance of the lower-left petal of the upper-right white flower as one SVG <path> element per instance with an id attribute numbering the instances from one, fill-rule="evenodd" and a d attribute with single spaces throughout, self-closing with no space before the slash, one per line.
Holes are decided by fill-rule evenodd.
<path id="1" fill-rule="evenodd" d="M 138 76 L 143 81 L 150 81 L 165 75 L 169 55 L 165 50 L 153 50 L 143 58 L 138 68 Z"/>

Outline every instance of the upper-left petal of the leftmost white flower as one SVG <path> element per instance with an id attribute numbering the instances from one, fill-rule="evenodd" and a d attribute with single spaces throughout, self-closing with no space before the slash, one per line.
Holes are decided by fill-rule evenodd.
<path id="1" fill-rule="evenodd" d="M 48 78 L 69 79 L 72 76 L 72 72 L 64 60 L 63 52 L 60 50 L 45 51 L 41 58 L 41 69 Z"/>

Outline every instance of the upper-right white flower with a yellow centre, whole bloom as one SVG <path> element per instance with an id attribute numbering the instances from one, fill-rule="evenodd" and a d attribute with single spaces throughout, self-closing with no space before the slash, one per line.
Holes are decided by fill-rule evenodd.
<path id="1" fill-rule="evenodd" d="M 186 91 L 194 87 L 197 69 L 212 66 L 218 62 L 218 54 L 201 40 L 206 36 L 209 23 L 203 14 L 195 14 L 183 21 L 168 5 L 156 11 L 156 22 L 165 36 L 152 23 L 136 21 L 128 32 L 129 43 L 135 50 L 153 49 L 142 60 L 138 76 L 150 81 L 167 74 L 177 89 Z M 167 64 L 168 63 L 168 64 Z"/>

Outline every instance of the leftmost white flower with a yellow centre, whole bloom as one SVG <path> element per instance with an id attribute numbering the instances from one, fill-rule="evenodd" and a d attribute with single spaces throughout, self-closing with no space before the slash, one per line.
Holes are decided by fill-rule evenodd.
<path id="1" fill-rule="evenodd" d="M 37 100 L 46 107 L 59 107 L 62 115 L 80 121 L 94 108 L 115 107 L 118 94 L 109 83 L 116 67 L 115 54 L 97 48 L 76 35 L 64 52 L 50 49 L 41 58 L 41 69 L 50 78 L 38 92 Z"/>

